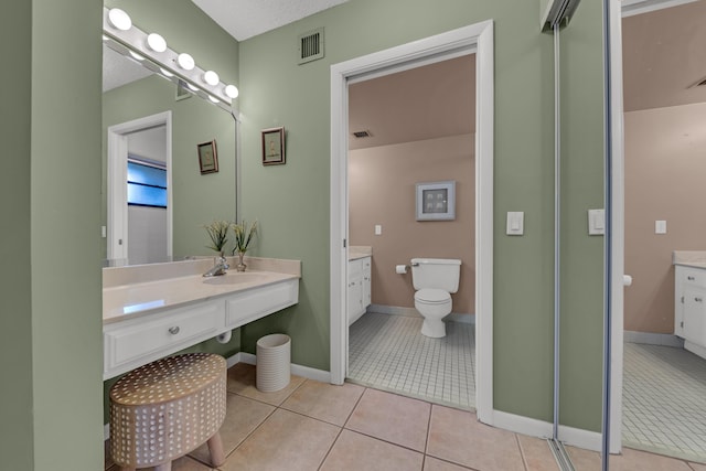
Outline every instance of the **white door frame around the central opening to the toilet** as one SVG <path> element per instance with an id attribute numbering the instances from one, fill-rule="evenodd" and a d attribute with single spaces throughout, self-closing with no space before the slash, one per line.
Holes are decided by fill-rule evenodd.
<path id="1" fill-rule="evenodd" d="M 475 404 L 479 420 L 493 422 L 493 22 L 368 54 L 331 66 L 331 383 L 347 365 L 346 267 L 349 237 L 347 84 L 363 74 L 409 68 L 463 53 L 477 54 L 475 86 Z"/>

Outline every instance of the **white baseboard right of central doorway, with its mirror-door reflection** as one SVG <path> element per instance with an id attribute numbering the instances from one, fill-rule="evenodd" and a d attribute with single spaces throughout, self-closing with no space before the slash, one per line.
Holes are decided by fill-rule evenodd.
<path id="1" fill-rule="evenodd" d="M 516 433 L 531 437 L 550 438 L 553 425 L 530 417 L 493 410 L 493 427 L 503 428 Z M 601 435 L 596 431 L 582 430 L 574 427 L 559 426 L 559 441 L 571 447 L 584 448 L 591 451 L 601 450 Z"/>

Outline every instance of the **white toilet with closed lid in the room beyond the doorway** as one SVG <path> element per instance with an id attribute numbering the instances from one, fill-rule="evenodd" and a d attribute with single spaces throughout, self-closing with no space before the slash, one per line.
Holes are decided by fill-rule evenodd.
<path id="1" fill-rule="evenodd" d="M 459 289 L 461 260 L 447 258 L 413 258 L 411 282 L 415 308 L 424 317 L 421 333 L 431 338 L 446 336 L 441 319 L 451 313 L 451 293 Z"/>

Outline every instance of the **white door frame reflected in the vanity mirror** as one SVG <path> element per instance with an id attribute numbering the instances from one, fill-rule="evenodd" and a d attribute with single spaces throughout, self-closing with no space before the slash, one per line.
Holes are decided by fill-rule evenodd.
<path id="1" fill-rule="evenodd" d="M 128 135 L 157 126 L 164 126 L 167 129 L 167 255 L 172 256 L 172 111 L 170 110 L 108 127 L 108 259 L 128 257 Z"/>

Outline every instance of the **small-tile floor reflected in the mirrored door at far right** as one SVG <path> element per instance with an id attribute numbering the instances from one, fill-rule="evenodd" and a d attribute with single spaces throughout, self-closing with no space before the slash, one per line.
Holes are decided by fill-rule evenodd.
<path id="1" fill-rule="evenodd" d="M 706 360 L 638 343 L 623 357 L 623 443 L 706 462 Z"/>

